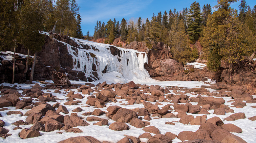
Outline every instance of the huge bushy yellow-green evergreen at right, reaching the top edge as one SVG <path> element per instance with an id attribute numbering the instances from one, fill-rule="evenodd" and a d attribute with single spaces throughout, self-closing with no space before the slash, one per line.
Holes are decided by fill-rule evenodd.
<path id="1" fill-rule="evenodd" d="M 220 71 L 221 60 L 229 64 L 229 75 L 232 81 L 233 64 L 243 60 L 248 51 L 244 43 L 243 27 L 236 16 L 236 10 L 230 8 L 230 3 L 236 0 L 218 0 L 218 5 L 212 15 L 209 15 L 203 30 L 201 43 L 207 55 L 208 69 Z"/>

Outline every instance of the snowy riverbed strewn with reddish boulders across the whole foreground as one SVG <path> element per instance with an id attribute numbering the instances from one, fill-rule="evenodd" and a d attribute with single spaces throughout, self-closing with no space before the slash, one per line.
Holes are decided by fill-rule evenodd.
<path id="1" fill-rule="evenodd" d="M 0 108 L 1 142 L 253 142 L 256 139 L 255 127 L 251 127 L 256 114 L 251 106 L 256 104 L 232 105 L 240 101 L 241 106 L 245 100 L 255 99 L 231 99 L 218 92 L 222 89 L 217 87 L 187 89 L 134 82 L 86 83 L 65 88 L 40 83 L 17 86 L 20 89 L 8 90 L 12 85 L 5 84 L 1 90 L 0 98 L 11 103 Z M 6 96 L 10 95 L 20 97 L 11 96 L 8 100 Z M 39 100 L 42 97 L 50 100 Z"/>

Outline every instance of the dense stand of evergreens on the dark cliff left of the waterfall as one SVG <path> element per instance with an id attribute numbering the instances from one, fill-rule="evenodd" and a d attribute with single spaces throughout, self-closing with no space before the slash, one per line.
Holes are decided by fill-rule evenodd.
<path id="1" fill-rule="evenodd" d="M 0 2 L 0 50 L 13 51 L 13 78 L 15 51 L 18 44 L 34 53 L 30 83 L 33 80 L 36 53 L 41 51 L 45 35 L 42 31 L 82 38 L 81 16 L 76 0 L 4 0 Z"/>

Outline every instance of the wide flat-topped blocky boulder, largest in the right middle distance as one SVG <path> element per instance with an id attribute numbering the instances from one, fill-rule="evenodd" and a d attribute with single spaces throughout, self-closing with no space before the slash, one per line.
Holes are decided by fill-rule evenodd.
<path id="1" fill-rule="evenodd" d="M 223 98 L 214 98 L 212 96 L 209 96 L 209 97 L 201 97 L 197 105 L 203 106 L 205 104 L 210 104 L 210 106 L 216 105 L 219 108 L 220 105 L 224 103 L 225 103 L 225 100 Z"/>

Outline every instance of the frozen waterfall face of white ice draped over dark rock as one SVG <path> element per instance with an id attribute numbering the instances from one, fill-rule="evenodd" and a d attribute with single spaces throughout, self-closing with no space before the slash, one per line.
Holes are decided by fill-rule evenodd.
<path id="1" fill-rule="evenodd" d="M 73 58 L 72 70 L 83 71 L 85 76 L 110 83 L 152 80 L 144 69 L 147 54 L 133 49 L 123 49 L 108 44 L 71 38 L 80 47 L 67 44 Z"/>

